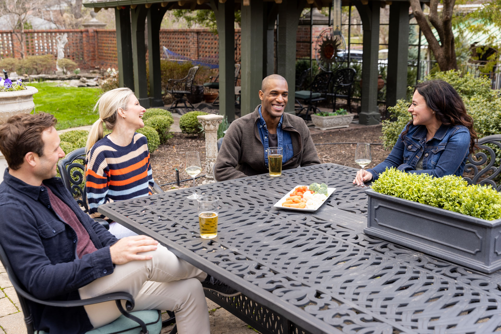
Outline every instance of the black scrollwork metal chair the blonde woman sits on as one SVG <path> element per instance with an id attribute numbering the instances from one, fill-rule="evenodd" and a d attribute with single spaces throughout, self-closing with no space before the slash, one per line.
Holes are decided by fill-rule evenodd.
<path id="1" fill-rule="evenodd" d="M 76 199 L 78 205 L 83 208 L 84 212 L 89 212 L 85 191 L 85 147 L 76 149 L 59 160 L 58 170 L 66 189 L 71 192 L 74 198 L 80 197 Z M 153 184 L 153 191 L 157 194 L 163 192 L 156 183 Z M 106 229 L 110 227 L 104 219 L 96 218 L 95 220 Z"/>

